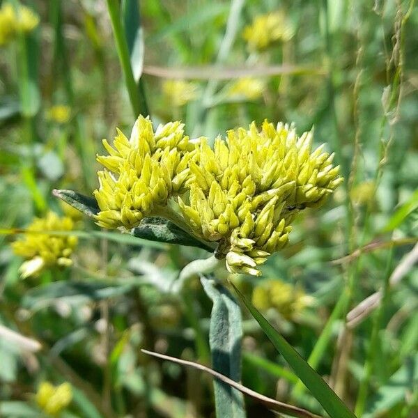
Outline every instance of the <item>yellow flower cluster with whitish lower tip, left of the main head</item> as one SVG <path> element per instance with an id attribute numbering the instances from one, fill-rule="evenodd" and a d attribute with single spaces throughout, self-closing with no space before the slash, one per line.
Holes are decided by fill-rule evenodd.
<path id="1" fill-rule="evenodd" d="M 72 229 L 73 223 L 70 217 L 59 217 L 54 212 L 49 212 L 45 218 L 35 218 L 23 238 L 12 244 L 15 254 L 28 259 L 20 266 L 22 277 L 26 279 L 53 265 L 60 267 L 71 265 L 70 256 L 77 245 L 77 237 L 49 235 L 48 231 Z"/>

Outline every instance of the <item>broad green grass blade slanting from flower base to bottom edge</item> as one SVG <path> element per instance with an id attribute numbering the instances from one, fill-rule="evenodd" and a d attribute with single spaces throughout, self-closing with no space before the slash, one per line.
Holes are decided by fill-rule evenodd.
<path id="1" fill-rule="evenodd" d="M 268 323 L 268 320 L 264 318 L 260 312 L 253 307 L 253 305 L 247 300 L 247 298 L 238 291 L 233 284 L 236 293 L 244 302 L 251 315 L 254 316 L 256 321 L 260 324 L 261 328 L 268 336 L 270 341 L 277 348 L 279 353 L 283 355 L 286 362 L 291 366 L 295 374 L 297 375 L 304 385 L 311 391 L 316 400 L 323 406 L 325 411 L 332 418 L 355 418 L 353 412 L 351 412 L 347 406 L 336 396 L 332 389 L 325 383 L 325 381 L 309 366 L 309 364 L 300 357 L 299 353 L 284 339 L 279 332 L 274 330 L 272 325 Z"/>

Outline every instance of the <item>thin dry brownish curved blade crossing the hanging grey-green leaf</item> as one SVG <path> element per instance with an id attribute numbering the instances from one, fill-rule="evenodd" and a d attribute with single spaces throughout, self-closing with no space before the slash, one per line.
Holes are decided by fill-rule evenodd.
<path id="1" fill-rule="evenodd" d="M 248 387 L 245 387 L 238 382 L 235 382 L 234 380 L 222 375 L 222 373 L 212 370 L 209 367 L 203 366 L 203 364 L 189 362 L 187 360 L 178 359 L 176 357 L 171 357 L 169 355 L 164 355 L 160 353 L 154 353 L 153 351 L 148 351 L 144 349 L 142 349 L 141 351 L 142 353 L 152 355 L 154 357 L 158 357 L 160 359 L 167 360 L 169 362 L 183 364 L 183 366 L 193 367 L 194 369 L 198 369 L 206 373 L 209 373 L 210 375 L 215 377 L 217 380 L 221 380 L 222 382 L 226 383 L 226 385 L 229 385 L 239 390 L 242 394 L 251 396 L 251 398 L 253 398 L 255 401 L 262 403 L 270 410 L 280 412 L 281 414 L 290 415 L 291 417 L 321 418 L 320 415 L 315 415 L 312 412 L 309 412 L 302 408 L 297 408 L 296 406 L 289 405 L 288 403 L 279 402 L 279 401 L 276 401 L 275 399 L 268 398 L 268 396 L 258 394 L 258 392 L 255 392 L 254 390 L 249 389 Z"/>

